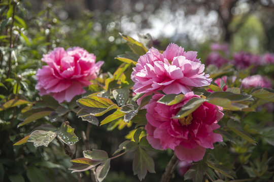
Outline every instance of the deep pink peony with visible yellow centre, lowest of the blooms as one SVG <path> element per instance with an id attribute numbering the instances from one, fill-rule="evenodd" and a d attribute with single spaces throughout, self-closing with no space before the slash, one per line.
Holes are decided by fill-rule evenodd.
<path id="1" fill-rule="evenodd" d="M 205 149 L 214 149 L 213 143 L 223 141 L 221 134 L 213 132 L 220 127 L 217 122 L 224 115 L 218 106 L 204 102 L 187 117 L 173 119 L 188 100 L 199 96 L 189 92 L 180 103 L 172 106 L 157 103 L 162 96 L 154 95 L 146 106 L 145 129 L 153 148 L 172 149 L 180 160 L 192 162 L 201 160 Z"/>

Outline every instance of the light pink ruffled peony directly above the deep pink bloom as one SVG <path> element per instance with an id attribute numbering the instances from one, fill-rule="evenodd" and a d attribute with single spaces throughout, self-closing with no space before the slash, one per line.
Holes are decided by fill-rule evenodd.
<path id="1" fill-rule="evenodd" d="M 193 86 L 209 85 L 212 79 L 208 74 L 204 75 L 204 65 L 196 56 L 197 52 L 184 52 L 174 43 L 169 44 L 163 54 L 151 48 L 133 68 L 133 91 L 152 93 L 163 90 L 165 94 L 186 94 Z"/>

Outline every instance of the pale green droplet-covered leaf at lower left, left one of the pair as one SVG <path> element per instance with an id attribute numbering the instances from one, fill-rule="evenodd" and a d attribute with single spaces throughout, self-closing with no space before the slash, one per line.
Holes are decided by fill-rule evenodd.
<path id="1" fill-rule="evenodd" d="M 27 142 L 33 142 L 35 147 L 48 147 L 49 143 L 55 139 L 55 136 L 56 132 L 53 131 L 35 130 L 29 135 Z"/>

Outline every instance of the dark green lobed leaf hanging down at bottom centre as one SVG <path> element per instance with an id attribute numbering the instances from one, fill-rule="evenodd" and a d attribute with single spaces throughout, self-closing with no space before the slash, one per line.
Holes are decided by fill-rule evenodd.
<path id="1" fill-rule="evenodd" d="M 155 173 L 153 159 L 141 147 L 135 152 L 132 168 L 134 175 L 137 174 L 140 180 L 145 178 L 147 171 Z"/>

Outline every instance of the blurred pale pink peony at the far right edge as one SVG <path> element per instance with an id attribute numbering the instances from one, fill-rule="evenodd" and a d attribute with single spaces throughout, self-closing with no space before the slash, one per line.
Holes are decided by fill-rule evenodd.
<path id="1" fill-rule="evenodd" d="M 250 87 L 266 87 L 272 88 L 271 80 L 261 75 L 252 75 L 243 79 L 242 86 L 245 88 Z"/>

